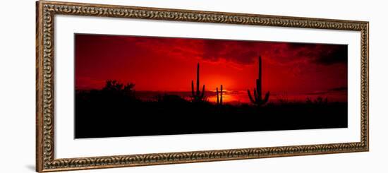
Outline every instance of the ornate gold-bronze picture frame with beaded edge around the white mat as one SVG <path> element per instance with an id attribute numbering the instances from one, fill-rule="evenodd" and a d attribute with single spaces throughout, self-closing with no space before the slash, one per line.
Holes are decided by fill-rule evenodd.
<path id="1" fill-rule="evenodd" d="M 77 169 L 133 167 L 188 162 L 242 160 L 265 157 L 286 157 L 329 153 L 351 153 L 369 150 L 369 88 L 368 37 L 369 23 L 353 20 L 267 16 L 245 13 L 190 11 L 167 8 L 78 4 L 37 1 L 36 28 L 36 171 L 54 172 Z M 360 32 L 360 141 L 314 145 L 271 146 L 264 148 L 231 148 L 227 150 L 198 150 L 176 153 L 142 153 L 102 157 L 54 157 L 54 32 L 56 15 L 95 16 L 101 18 L 133 18 L 174 20 L 193 23 L 223 23 L 260 25 L 286 28 L 350 30 Z M 125 153 L 123 153 L 125 154 Z"/>

